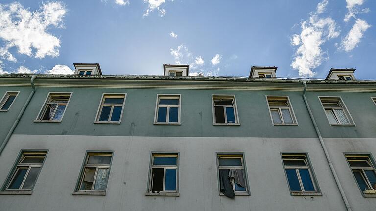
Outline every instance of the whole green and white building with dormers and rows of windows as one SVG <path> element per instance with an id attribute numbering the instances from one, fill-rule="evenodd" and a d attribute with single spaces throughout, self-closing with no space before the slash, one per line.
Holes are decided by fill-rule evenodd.
<path id="1" fill-rule="evenodd" d="M 374 211 L 376 81 L 0 74 L 0 211 Z"/>

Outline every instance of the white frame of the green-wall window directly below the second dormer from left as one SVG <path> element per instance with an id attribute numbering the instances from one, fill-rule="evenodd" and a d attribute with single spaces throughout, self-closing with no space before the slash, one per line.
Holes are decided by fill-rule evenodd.
<path id="1" fill-rule="evenodd" d="M 179 99 L 179 105 L 159 105 L 159 99 Z M 166 122 L 157 122 L 158 121 L 158 108 L 167 107 L 167 116 Z M 168 122 L 170 107 L 178 107 L 178 122 Z M 155 112 L 154 112 L 154 125 L 180 125 L 181 124 L 181 110 L 182 110 L 182 95 L 181 94 L 157 94 L 157 101 L 155 103 Z"/>

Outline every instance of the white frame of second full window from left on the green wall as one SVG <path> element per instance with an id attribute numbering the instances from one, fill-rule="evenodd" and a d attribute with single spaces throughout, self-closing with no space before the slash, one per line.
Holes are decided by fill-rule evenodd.
<path id="1" fill-rule="evenodd" d="M 116 105 L 120 106 L 121 104 L 113 104 L 113 105 L 111 105 L 112 107 L 111 107 L 110 116 L 108 118 L 108 121 L 99 121 L 99 117 L 100 117 L 100 114 L 101 114 L 102 108 L 103 108 L 103 103 L 104 103 L 104 100 L 105 100 L 106 97 L 107 98 L 108 97 L 109 98 L 111 98 L 111 97 L 113 97 L 113 98 L 124 97 L 124 101 L 123 101 L 123 104 L 122 104 L 119 121 L 111 121 L 111 117 L 112 117 L 112 112 L 114 110 L 114 106 L 116 106 Z M 127 98 L 127 93 L 102 93 L 102 97 L 101 97 L 100 102 L 99 102 L 99 106 L 98 106 L 98 110 L 96 112 L 94 123 L 95 124 L 120 124 L 121 123 L 121 119 L 123 117 L 123 112 L 124 112 L 126 98 Z"/>

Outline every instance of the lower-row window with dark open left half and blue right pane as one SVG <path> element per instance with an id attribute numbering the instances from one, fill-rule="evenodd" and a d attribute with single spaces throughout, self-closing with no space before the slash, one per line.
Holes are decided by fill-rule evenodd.
<path id="1" fill-rule="evenodd" d="M 178 157 L 178 153 L 152 153 L 148 188 L 149 193 L 147 195 L 166 195 L 159 193 L 178 192 Z M 176 196 L 176 194 L 171 195 Z"/>

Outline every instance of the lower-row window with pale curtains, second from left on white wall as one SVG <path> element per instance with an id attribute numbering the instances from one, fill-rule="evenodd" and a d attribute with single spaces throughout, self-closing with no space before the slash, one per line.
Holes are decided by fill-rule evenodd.
<path id="1" fill-rule="evenodd" d="M 76 191 L 106 191 L 113 152 L 88 152 Z"/>

